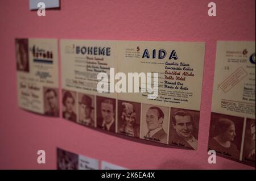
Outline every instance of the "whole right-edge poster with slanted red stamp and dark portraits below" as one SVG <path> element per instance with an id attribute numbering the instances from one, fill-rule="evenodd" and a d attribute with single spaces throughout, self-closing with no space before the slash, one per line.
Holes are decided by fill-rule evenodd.
<path id="1" fill-rule="evenodd" d="M 208 150 L 255 165 L 255 41 L 218 41 Z"/>

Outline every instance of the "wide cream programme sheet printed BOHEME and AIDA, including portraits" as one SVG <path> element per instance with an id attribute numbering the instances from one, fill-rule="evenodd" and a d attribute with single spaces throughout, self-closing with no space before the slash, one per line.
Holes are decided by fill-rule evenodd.
<path id="1" fill-rule="evenodd" d="M 73 106 L 73 112 L 79 115 L 76 116 L 77 123 L 107 129 L 107 131 L 126 136 L 196 149 L 205 43 L 61 40 L 60 47 L 63 91 L 77 93 L 72 98 L 76 104 Z M 106 51 L 107 48 L 109 51 Z M 143 57 L 146 49 L 150 58 Z M 155 50 L 155 58 L 152 57 L 153 50 Z M 166 56 L 163 56 L 163 52 L 166 53 Z M 159 73 L 158 98 L 149 100 L 147 92 L 98 92 L 96 89 L 99 82 L 96 79 L 97 74 L 100 71 L 106 72 L 110 82 L 110 68 L 114 68 L 114 75 L 125 73 L 127 85 L 128 73 Z M 115 83 L 118 81 L 114 80 Z M 165 85 L 167 87 L 164 87 Z M 126 86 L 126 91 L 128 89 Z M 83 96 L 86 97 L 84 102 L 82 101 Z M 105 99 L 114 107 L 114 110 L 110 109 L 110 112 L 114 111 L 114 116 L 112 115 L 114 122 L 110 124 L 115 125 L 115 128 L 104 127 L 104 124 L 101 123 L 103 114 L 101 105 Z M 87 120 L 94 121 L 85 123 L 85 119 L 79 120 L 81 113 L 84 112 L 82 105 L 92 107 L 89 109 L 90 116 L 87 116 Z M 66 106 L 63 105 L 64 108 Z M 78 107 L 78 111 L 76 107 Z M 152 115 L 162 116 L 158 118 L 162 124 L 158 129 L 155 129 L 155 126 L 152 128 L 148 126 L 146 117 L 150 111 L 152 111 Z M 195 124 L 189 131 L 186 131 L 193 135 L 189 136 L 191 139 L 193 138 L 193 146 L 189 145 L 189 141 L 187 142 L 182 137 L 179 138 L 180 140 L 171 137 L 172 118 L 170 115 L 174 115 L 177 111 L 185 111 L 189 115 L 189 119 L 192 120 L 193 117 L 195 119 Z M 133 119 L 133 128 L 127 128 L 127 121 L 131 121 L 131 119 Z"/>

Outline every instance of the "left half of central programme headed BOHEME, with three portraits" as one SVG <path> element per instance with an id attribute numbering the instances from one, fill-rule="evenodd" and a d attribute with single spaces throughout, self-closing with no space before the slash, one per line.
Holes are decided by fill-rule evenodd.
<path id="1" fill-rule="evenodd" d="M 97 75 L 117 69 L 117 41 L 61 40 L 63 118 L 116 131 L 117 94 L 97 91 Z"/>

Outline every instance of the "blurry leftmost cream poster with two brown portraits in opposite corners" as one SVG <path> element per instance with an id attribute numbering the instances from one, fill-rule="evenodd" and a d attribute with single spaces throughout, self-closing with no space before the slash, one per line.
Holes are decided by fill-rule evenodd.
<path id="1" fill-rule="evenodd" d="M 15 39 L 18 105 L 59 117 L 57 39 Z"/>

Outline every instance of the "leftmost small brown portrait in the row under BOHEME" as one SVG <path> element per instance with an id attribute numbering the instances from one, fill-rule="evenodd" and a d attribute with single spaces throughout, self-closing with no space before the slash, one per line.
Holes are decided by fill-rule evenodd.
<path id="1" fill-rule="evenodd" d="M 76 92 L 63 90 L 63 112 L 62 117 L 69 121 L 76 122 Z"/>

